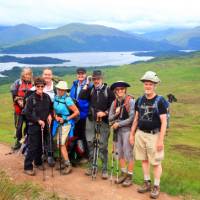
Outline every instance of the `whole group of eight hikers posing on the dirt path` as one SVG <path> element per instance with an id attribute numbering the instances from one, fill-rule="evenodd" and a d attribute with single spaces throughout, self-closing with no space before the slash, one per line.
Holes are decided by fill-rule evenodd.
<path id="1" fill-rule="evenodd" d="M 31 68 L 24 68 L 21 78 L 12 84 L 16 127 L 13 149 L 21 149 L 26 143 L 24 173 L 34 176 L 35 168 L 44 170 L 46 161 L 66 175 L 73 164 L 87 162 L 85 175 L 95 178 L 99 157 L 102 179 L 108 179 L 108 140 L 112 130 L 111 178 L 115 161 L 114 182 L 131 186 L 134 160 L 141 160 L 144 184 L 138 192 L 150 192 L 151 198 L 158 198 L 168 105 L 164 97 L 156 94 L 160 82 L 157 74 L 147 71 L 142 76 L 144 95 L 135 100 L 127 92 L 129 83 L 117 81 L 109 87 L 101 70 L 94 70 L 92 76 L 87 76 L 85 68 L 78 68 L 76 73 L 71 88 L 63 80 L 55 82 L 50 68 L 34 81 Z"/>

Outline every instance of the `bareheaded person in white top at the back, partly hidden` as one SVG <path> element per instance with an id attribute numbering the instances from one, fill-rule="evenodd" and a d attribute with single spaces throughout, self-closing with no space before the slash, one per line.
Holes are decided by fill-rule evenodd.
<path id="1" fill-rule="evenodd" d="M 56 95 L 56 88 L 55 84 L 53 82 L 53 72 L 50 68 L 45 68 L 42 73 L 42 77 L 45 81 L 45 86 L 44 86 L 44 93 L 48 94 L 51 102 L 53 103 L 55 95 Z M 53 117 L 53 116 L 52 116 Z M 47 162 L 49 166 L 54 166 L 55 165 L 55 160 L 54 160 L 54 149 L 53 149 L 53 136 L 51 134 L 52 130 L 52 124 L 48 127 L 49 128 L 49 134 L 47 135 L 47 141 L 45 141 L 47 144 Z"/>

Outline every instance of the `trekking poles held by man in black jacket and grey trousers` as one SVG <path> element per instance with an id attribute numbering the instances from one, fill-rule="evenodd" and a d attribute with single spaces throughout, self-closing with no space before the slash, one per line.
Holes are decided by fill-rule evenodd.
<path id="1" fill-rule="evenodd" d="M 101 127 L 101 118 L 98 117 L 95 127 L 94 152 L 93 152 L 93 162 L 92 162 L 92 180 L 96 179 L 98 171 L 100 127 Z"/>

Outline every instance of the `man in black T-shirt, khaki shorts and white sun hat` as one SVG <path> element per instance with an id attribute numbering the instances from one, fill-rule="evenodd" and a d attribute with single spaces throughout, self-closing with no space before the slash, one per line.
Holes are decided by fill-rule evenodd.
<path id="1" fill-rule="evenodd" d="M 134 145 L 135 159 L 142 161 L 144 185 L 139 193 L 151 191 L 151 198 L 158 198 L 160 192 L 161 161 L 164 159 L 164 136 L 167 126 L 165 99 L 156 94 L 160 79 L 155 72 L 147 71 L 140 79 L 144 95 L 135 104 L 135 118 L 130 133 Z M 150 165 L 153 166 L 154 184 L 151 187 Z"/>

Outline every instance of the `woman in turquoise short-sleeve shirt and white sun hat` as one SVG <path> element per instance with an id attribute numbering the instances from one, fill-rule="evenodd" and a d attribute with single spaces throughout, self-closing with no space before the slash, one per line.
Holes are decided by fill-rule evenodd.
<path id="1" fill-rule="evenodd" d="M 57 123 L 56 137 L 57 147 L 59 148 L 64 159 L 62 165 L 62 174 L 66 175 L 72 171 L 72 166 L 68 157 L 67 140 L 72 137 L 73 119 L 79 115 L 79 110 L 74 104 L 72 98 L 67 94 L 67 83 L 59 81 L 56 85 L 57 95 L 54 99 L 54 115 Z M 61 162 L 61 158 L 60 158 Z M 64 169 L 63 169 L 64 168 Z"/>

